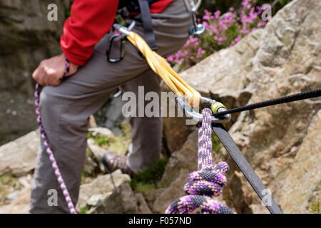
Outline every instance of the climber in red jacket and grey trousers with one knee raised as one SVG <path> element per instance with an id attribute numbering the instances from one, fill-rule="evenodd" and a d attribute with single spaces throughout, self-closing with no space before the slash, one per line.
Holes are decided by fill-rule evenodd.
<path id="1" fill-rule="evenodd" d="M 40 113 L 46 136 L 66 182 L 73 204 L 78 200 L 81 173 L 86 155 L 88 117 L 103 105 L 108 95 L 121 86 L 125 91 L 161 93 L 159 77 L 128 41 L 121 61 L 111 63 L 106 50 L 113 33 L 111 28 L 116 11 L 131 2 L 138 6 L 142 0 L 74 0 L 71 16 L 66 20 L 61 36 L 63 53 L 41 61 L 33 73 L 37 83 L 45 86 L 41 91 Z M 162 56 L 178 51 L 188 39 L 192 18 L 184 0 L 149 0 L 153 36 L 148 43 L 157 47 Z M 149 11 L 149 10 L 148 10 Z M 141 14 L 131 14 L 136 21 L 133 31 L 146 36 Z M 144 24 L 144 26 L 143 26 Z M 66 66 L 69 66 L 66 68 Z M 68 69 L 68 77 L 63 77 Z M 71 77 L 69 77 L 71 76 Z M 160 115 L 158 115 L 160 116 Z M 161 154 L 161 117 L 131 118 L 132 147 L 128 155 L 107 152 L 103 163 L 110 172 L 121 169 L 133 174 L 153 165 Z M 58 204 L 49 206 L 49 190 L 58 192 Z M 38 162 L 31 191 L 31 213 L 66 213 L 68 206 L 58 185 L 51 161 L 39 147 Z"/>

